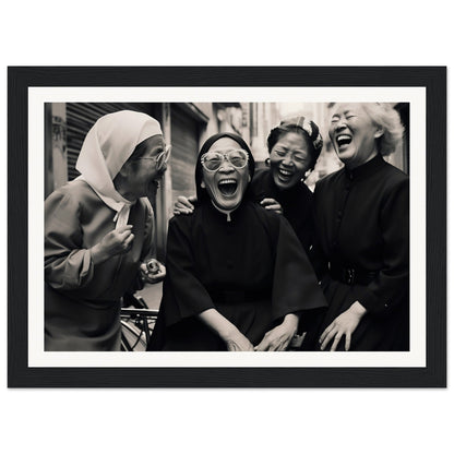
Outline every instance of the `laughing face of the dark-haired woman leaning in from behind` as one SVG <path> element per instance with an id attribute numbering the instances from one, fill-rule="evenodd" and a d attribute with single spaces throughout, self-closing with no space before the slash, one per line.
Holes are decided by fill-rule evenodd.
<path id="1" fill-rule="evenodd" d="M 288 189 L 304 177 L 311 165 L 308 140 L 297 132 L 282 135 L 270 153 L 273 181 L 279 189 Z"/>

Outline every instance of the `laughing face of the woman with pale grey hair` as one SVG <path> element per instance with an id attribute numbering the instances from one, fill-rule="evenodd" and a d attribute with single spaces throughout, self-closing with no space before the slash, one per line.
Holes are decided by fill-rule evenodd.
<path id="1" fill-rule="evenodd" d="M 362 104 L 340 104 L 332 116 L 330 138 L 339 159 L 349 168 L 378 154 L 377 139 L 383 130 L 372 122 Z"/>

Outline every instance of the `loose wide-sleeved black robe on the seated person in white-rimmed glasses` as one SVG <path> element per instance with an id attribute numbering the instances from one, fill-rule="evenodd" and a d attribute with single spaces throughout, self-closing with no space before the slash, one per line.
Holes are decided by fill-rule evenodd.
<path id="1" fill-rule="evenodd" d="M 326 306 L 287 220 L 252 202 L 229 222 L 211 202 L 170 219 L 166 266 L 151 349 L 226 350 L 196 316 L 211 308 L 258 345 L 286 314 Z"/>

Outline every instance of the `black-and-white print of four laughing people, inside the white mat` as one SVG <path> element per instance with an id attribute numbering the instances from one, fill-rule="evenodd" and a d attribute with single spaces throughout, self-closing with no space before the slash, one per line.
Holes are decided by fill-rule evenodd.
<path id="1" fill-rule="evenodd" d="M 46 104 L 45 350 L 409 351 L 409 106 Z"/>

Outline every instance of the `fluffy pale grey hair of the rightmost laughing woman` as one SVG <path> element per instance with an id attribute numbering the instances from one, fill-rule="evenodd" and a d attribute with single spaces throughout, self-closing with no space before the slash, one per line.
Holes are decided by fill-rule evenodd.
<path id="1" fill-rule="evenodd" d="M 382 156 L 391 155 L 403 140 L 404 127 L 401 116 L 389 103 L 361 103 L 373 123 L 383 128 L 383 135 L 378 140 L 378 148 Z"/>

